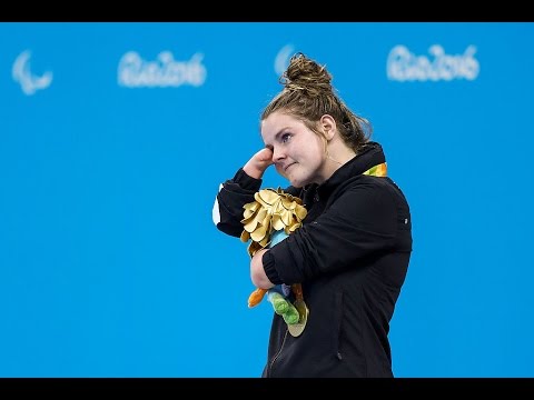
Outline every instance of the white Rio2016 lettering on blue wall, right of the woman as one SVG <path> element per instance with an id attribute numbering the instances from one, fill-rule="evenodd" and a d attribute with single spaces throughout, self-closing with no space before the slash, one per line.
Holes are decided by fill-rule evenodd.
<path id="1" fill-rule="evenodd" d="M 439 44 L 428 49 L 431 57 L 416 56 L 405 46 L 396 46 L 387 57 L 387 78 L 396 81 L 475 80 L 479 63 L 476 47 L 468 46 L 463 54 L 449 56 Z"/>

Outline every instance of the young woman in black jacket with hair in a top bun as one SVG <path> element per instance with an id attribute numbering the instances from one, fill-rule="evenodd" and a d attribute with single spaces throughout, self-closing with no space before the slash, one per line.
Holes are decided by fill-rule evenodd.
<path id="1" fill-rule="evenodd" d="M 409 207 L 368 121 L 330 82 L 305 54 L 290 59 L 261 114 L 265 148 L 221 184 L 214 206 L 217 228 L 240 237 L 243 206 L 274 164 L 307 210 L 299 229 L 250 261 L 254 284 L 300 283 L 309 310 L 298 336 L 274 314 L 263 377 L 393 377 L 388 332 L 412 252 Z"/>

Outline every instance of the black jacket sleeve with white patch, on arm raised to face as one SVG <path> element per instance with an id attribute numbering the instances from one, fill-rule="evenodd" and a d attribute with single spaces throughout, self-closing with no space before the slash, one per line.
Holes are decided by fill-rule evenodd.
<path id="1" fill-rule="evenodd" d="M 249 177 L 240 168 L 233 179 L 219 186 L 215 199 L 212 218 L 218 230 L 234 237 L 243 232 L 243 206 L 254 201 L 254 193 L 259 190 L 261 179 Z"/>

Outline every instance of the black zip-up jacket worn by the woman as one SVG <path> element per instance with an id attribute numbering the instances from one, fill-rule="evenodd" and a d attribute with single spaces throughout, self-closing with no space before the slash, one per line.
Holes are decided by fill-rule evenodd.
<path id="1" fill-rule="evenodd" d="M 412 219 L 389 178 L 362 174 L 385 162 L 369 142 L 320 186 L 289 187 L 308 210 L 303 227 L 264 254 L 273 283 L 303 283 L 304 332 L 288 334 L 274 314 L 263 377 L 393 377 L 389 321 L 412 252 Z M 243 206 L 261 180 L 243 169 L 217 194 L 217 228 L 239 237 Z"/>

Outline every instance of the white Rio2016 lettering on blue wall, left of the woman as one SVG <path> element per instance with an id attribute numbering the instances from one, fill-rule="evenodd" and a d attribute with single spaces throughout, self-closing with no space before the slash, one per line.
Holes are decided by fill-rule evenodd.
<path id="1" fill-rule="evenodd" d="M 120 59 L 118 83 L 127 88 L 199 87 L 207 76 L 202 58 L 204 54 L 195 53 L 188 61 L 176 61 L 170 51 L 162 51 L 156 61 L 146 61 L 129 51 Z"/>

